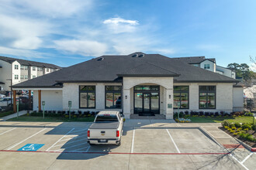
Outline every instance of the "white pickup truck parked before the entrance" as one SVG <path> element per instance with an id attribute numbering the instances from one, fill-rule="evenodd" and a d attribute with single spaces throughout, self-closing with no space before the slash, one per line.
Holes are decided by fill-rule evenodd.
<path id="1" fill-rule="evenodd" d="M 101 111 L 88 128 L 88 144 L 121 145 L 123 134 L 123 115 L 119 111 Z"/>

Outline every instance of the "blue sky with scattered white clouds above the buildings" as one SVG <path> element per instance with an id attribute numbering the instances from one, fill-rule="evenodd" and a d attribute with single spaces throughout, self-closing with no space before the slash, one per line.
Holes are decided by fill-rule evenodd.
<path id="1" fill-rule="evenodd" d="M 256 1 L 0 0 L 0 55 L 71 66 L 108 54 L 256 56 Z"/>

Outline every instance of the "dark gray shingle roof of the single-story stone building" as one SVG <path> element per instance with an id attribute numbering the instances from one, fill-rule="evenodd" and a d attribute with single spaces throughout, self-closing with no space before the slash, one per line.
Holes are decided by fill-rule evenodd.
<path id="1" fill-rule="evenodd" d="M 55 87 L 56 83 L 71 82 L 122 82 L 121 76 L 175 76 L 175 82 L 237 83 L 230 77 L 191 66 L 178 59 L 160 54 L 144 57 L 101 56 L 74 66 L 36 77 L 13 87 Z M 140 54 L 140 53 L 139 53 Z"/>

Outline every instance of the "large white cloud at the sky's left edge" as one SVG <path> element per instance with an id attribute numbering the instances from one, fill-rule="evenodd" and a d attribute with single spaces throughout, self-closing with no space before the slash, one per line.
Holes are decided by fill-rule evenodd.
<path id="1" fill-rule="evenodd" d="M 17 49 L 38 49 L 41 36 L 49 33 L 50 25 L 33 19 L 0 15 L 0 45 Z"/>

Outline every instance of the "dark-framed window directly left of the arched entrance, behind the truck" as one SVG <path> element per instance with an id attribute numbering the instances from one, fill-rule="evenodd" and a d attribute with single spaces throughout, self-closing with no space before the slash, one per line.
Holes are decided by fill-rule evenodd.
<path id="1" fill-rule="evenodd" d="M 122 87 L 106 86 L 105 87 L 106 108 L 122 108 Z"/>

